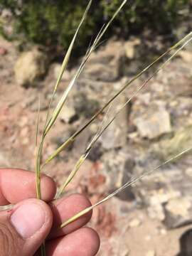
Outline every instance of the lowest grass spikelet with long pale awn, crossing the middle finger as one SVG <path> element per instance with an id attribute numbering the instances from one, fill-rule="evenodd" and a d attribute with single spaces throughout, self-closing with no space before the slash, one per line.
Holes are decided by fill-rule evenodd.
<path id="1" fill-rule="evenodd" d="M 144 174 L 142 174 L 141 176 L 138 176 L 136 178 L 132 178 L 131 181 L 127 181 L 127 183 L 125 183 L 122 187 L 118 188 L 116 191 L 114 191 L 113 193 L 111 193 L 109 196 L 105 197 L 104 199 L 102 199 L 102 201 L 99 201 L 97 203 L 95 203 L 95 205 L 90 206 L 89 208 L 85 208 L 85 210 L 82 210 L 80 213 L 77 213 L 76 215 L 74 215 L 72 218 L 66 220 L 64 223 L 62 223 L 60 225 L 60 228 L 65 227 L 66 225 L 72 223 L 75 220 L 78 220 L 78 218 L 80 218 L 82 215 L 85 215 L 86 213 L 90 212 L 90 210 L 94 209 L 95 207 L 99 206 L 102 203 L 105 203 L 106 201 L 108 201 L 110 198 L 112 198 L 113 196 L 117 195 L 117 193 L 121 192 L 124 188 L 127 188 L 128 186 L 133 185 L 134 183 L 136 183 L 137 181 L 142 180 L 144 177 L 149 176 L 150 174 L 152 174 L 154 171 L 158 170 L 159 168 L 165 166 L 166 164 L 171 163 L 171 161 L 174 161 L 178 158 L 180 158 L 181 156 L 183 156 L 184 154 L 189 153 L 192 150 L 191 148 L 188 148 L 184 151 L 181 151 L 179 154 L 177 154 L 176 156 L 172 157 L 171 159 L 166 160 L 163 164 L 160 164 L 159 166 L 156 166 L 154 169 L 151 169 L 149 171 L 146 171 Z"/>

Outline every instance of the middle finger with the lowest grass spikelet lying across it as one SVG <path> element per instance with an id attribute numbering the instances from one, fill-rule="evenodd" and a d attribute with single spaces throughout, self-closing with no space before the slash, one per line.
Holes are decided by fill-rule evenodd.
<path id="1" fill-rule="evenodd" d="M 48 239 L 58 238 L 62 235 L 67 235 L 78 228 L 85 225 L 92 216 L 92 211 L 70 223 L 65 228 L 60 228 L 60 224 L 70 217 L 79 213 L 87 207 L 90 207 L 90 201 L 83 195 L 73 194 L 66 198 L 61 198 L 53 203 L 50 203 L 50 208 L 53 212 L 53 228 L 50 231 Z"/>

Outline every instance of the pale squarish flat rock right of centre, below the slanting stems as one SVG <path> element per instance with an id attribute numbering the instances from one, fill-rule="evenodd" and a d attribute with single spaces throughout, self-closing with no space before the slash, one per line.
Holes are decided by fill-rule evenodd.
<path id="1" fill-rule="evenodd" d="M 158 111 L 149 111 L 134 119 L 141 137 L 155 139 L 163 134 L 171 132 L 171 120 L 169 112 L 164 107 Z"/>

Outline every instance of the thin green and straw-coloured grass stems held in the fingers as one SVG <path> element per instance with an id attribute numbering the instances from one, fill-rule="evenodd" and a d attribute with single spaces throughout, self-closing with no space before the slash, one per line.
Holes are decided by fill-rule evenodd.
<path id="1" fill-rule="evenodd" d="M 72 41 L 70 43 L 70 46 L 69 46 L 69 48 L 68 48 L 68 50 L 67 50 L 67 52 L 65 54 L 65 57 L 63 59 L 63 64 L 61 66 L 60 73 L 58 75 L 58 79 L 57 79 L 57 81 L 55 83 L 55 87 L 53 89 L 53 95 L 52 95 L 52 97 L 50 99 L 50 103 L 49 103 L 49 107 L 48 107 L 48 112 L 47 112 L 47 116 L 46 116 L 46 123 L 44 124 L 43 133 L 41 134 L 41 141 L 39 143 L 38 143 L 38 139 L 37 139 L 38 138 L 38 126 L 39 126 L 38 125 L 38 123 L 39 123 L 39 111 L 38 111 L 38 123 L 37 123 L 37 129 L 36 129 L 36 149 L 37 149 L 37 154 L 36 154 L 36 193 L 37 193 L 37 198 L 38 199 L 41 199 L 41 186 L 40 185 L 41 185 L 41 171 L 42 171 L 42 169 L 45 168 L 46 165 L 50 161 L 52 161 L 56 156 L 58 156 L 58 154 L 60 154 L 61 151 L 63 151 L 67 146 L 69 146 L 71 143 L 73 143 L 75 141 L 75 139 L 77 139 L 78 136 L 82 133 L 82 131 L 84 131 L 90 124 L 92 124 L 92 122 L 94 122 L 95 119 L 97 119 L 97 117 L 101 113 L 105 112 L 105 110 L 107 110 L 112 105 L 113 101 L 122 92 L 124 92 L 124 90 L 126 90 L 127 87 L 130 87 L 132 85 L 132 83 L 135 80 L 137 80 L 137 78 L 139 78 L 141 75 L 146 73 L 146 71 L 148 71 L 154 65 L 159 64 L 159 66 L 156 68 L 155 71 L 153 71 L 153 73 L 149 76 L 149 78 L 147 78 L 143 82 L 143 84 L 139 88 L 137 88 L 137 90 L 132 95 L 129 96 L 129 98 L 127 99 L 127 102 L 125 102 L 124 105 L 119 107 L 119 109 L 114 113 L 113 117 L 110 120 L 107 120 L 107 123 L 104 122 L 104 121 L 102 122 L 102 124 L 100 125 L 100 128 L 98 129 L 97 134 L 95 134 L 95 137 L 92 138 L 90 144 L 87 146 L 87 148 L 85 149 L 84 153 L 78 159 L 78 161 L 75 164 L 73 170 L 70 172 L 70 175 L 68 176 L 68 178 L 65 181 L 63 181 L 63 184 L 60 186 L 60 188 L 58 188 L 58 193 L 56 195 L 56 198 L 59 198 L 60 195 L 65 192 L 65 188 L 67 188 L 68 184 L 71 181 L 73 181 L 73 178 L 75 177 L 75 174 L 77 174 L 78 170 L 80 169 L 80 166 L 83 164 L 83 162 L 85 161 L 87 156 L 90 154 L 90 151 L 92 150 L 92 147 L 95 145 L 97 140 L 101 137 L 101 135 L 105 132 L 105 130 L 110 126 L 110 124 L 112 124 L 112 122 L 117 117 L 119 112 L 121 112 L 124 109 L 124 107 L 126 107 L 127 104 L 129 104 L 129 102 L 140 91 L 142 91 L 142 89 L 144 87 L 146 87 L 146 85 L 148 84 L 149 80 L 151 80 L 151 78 L 153 78 L 154 75 L 156 75 L 161 70 L 163 70 L 166 67 L 167 63 L 169 63 L 170 60 L 172 60 L 172 58 L 174 58 L 178 54 L 178 52 L 180 50 L 182 50 L 192 40 L 192 31 L 191 31 L 184 38 L 182 38 L 180 41 L 178 41 L 178 43 L 174 44 L 174 46 L 171 46 L 171 48 L 166 50 L 165 53 L 160 55 L 159 58 L 156 58 L 156 60 L 154 60 L 153 63 L 151 63 L 150 65 L 146 66 L 146 68 L 144 68 L 144 70 L 140 71 L 137 75 L 135 75 L 134 78 L 132 78 L 131 80 L 129 80 L 129 82 L 127 82 L 124 86 L 122 86 L 122 88 L 112 98 L 110 98 L 110 100 L 108 100 L 108 102 L 106 102 L 106 104 L 97 113 L 95 113 L 90 118 L 90 120 L 87 123 L 82 125 L 82 127 L 80 129 L 78 129 L 77 132 L 75 132 L 72 136 L 70 136 L 62 145 L 60 145 L 58 147 L 58 149 L 53 151 L 53 153 L 50 154 L 48 159 L 46 159 L 46 161 L 44 163 L 42 163 L 44 141 L 45 141 L 48 133 L 50 132 L 50 129 L 53 128 L 53 124 L 55 124 L 55 122 L 56 122 L 56 120 L 58 118 L 58 115 L 60 114 L 61 110 L 63 109 L 63 107 L 65 108 L 65 102 L 66 102 L 66 100 L 68 98 L 68 95 L 70 94 L 70 91 L 73 89 L 73 86 L 75 86 L 75 82 L 78 80 L 78 77 L 80 76 L 80 74 L 82 73 L 83 69 L 85 68 L 85 65 L 88 63 L 90 55 L 92 55 L 92 53 L 97 49 L 97 47 L 100 46 L 100 43 L 102 43 L 102 37 L 104 36 L 105 32 L 107 31 L 107 28 L 110 27 L 110 25 L 111 25 L 112 21 L 114 20 L 114 18 L 119 14 L 120 11 L 122 11 L 122 8 L 124 7 L 124 5 L 127 4 L 127 0 L 122 1 L 122 4 L 120 4 L 120 6 L 117 9 L 117 11 L 115 11 L 115 13 L 112 16 L 112 18 L 110 19 L 110 21 L 105 23 L 102 26 L 102 28 L 100 29 L 100 31 L 97 33 L 97 36 L 95 37 L 95 40 L 92 43 L 90 43 L 90 46 L 87 48 L 87 52 L 85 53 L 84 58 L 82 58 L 82 62 L 80 63 L 80 66 L 79 66 L 77 72 L 73 76 L 73 79 L 70 81 L 68 87 L 65 89 L 65 91 L 63 92 L 62 97 L 60 97 L 60 100 L 58 100 L 58 103 L 56 104 L 56 107 L 52 111 L 52 105 L 53 105 L 53 100 L 55 98 L 55 93 L 56 93 L 56 91 L 58 89 L 58 86 L 60 85 L 60 80 L 63 78 L 63 75 L 65 75 L 65 70 L 66 70 L 66 68 L 68 66 L 68 62 L 70 60 L 70 55 L 71 55 L 71 53 L 73 51 L 73 46 L 75 44 L 76 39 L 78 38 L 78 32 L 80 31 L 82 23 L 84 23 L 84 21 L 86 19 L 87 12 L 90 10 L 90 6 L 92 4 L 92 1 L 93 0 L 90 0 L 89 3 L 87 4 L 87 8 L 85 9 L 85 13 L 82 16 L 82 19 L 81 19 L 81 21 L 79 23 L 79 26 L 78 26 L 77 30 L 75 31 L 75 35 L 73 36 L 73 39 L 72 39 Z M 103 118 L 105 118 L 105 117 L 103 117 Z M 184 154 L 189 153 L 191 150 L 192 150 L 192 146 L 191 146 L 191 148 L 188 148 L 188 149 L 186 149 L 184 151 L 181 151 L 179 154 L 177 154 L 176 156 L 172 157 L 171 159 L 168 159 L 168 160 L 164 161 L 164 163 L 160 164 L 159 166 L 154 167 L 154 169 L 145 171 L 144 174 L 142 174 L 141 176 L 133 177 L 131 180 L 127 181 L 127 183 L 124 183 L 123 186 L 118 188 L 116 191 L 111 193 L 109 196 L 103 198 L 102 201 L 99 201 L 99 202 L 95 203 L 93 206 L 90 206 L 89 208 L 85 208 L 85 210 L 82 210 L 80 213 L 74 215 L 72 218 L 66 220 L 64 223 L 60 223 L 60 228 L 63 228 L 66 225 L 72 223 L 73 221 L 75 221 L 78 218 L 80 218 L 80 216 L 85 215 L 90 210 L 92 210 L 95 207 L 99 206 L 100 204 L 105 203 L 106 201 L 108 201 L 110 198 L 115 196 L 117 193 L 122 191 L 124 188 L 127 188 L 128 186 L 131 186 L 132 184 L 134 184 L 137 181 L 141 180 L 145 176 L 148 176 L 149 174 L 153 173 L 154 171 L 159 169 L 161 166 L 169 164 L 171 161 L 174 161 L 174 160 L 180 158 Z M 41 246 L 41 255 L 43 255 L 43 256 L 46 255 L 45 245 Z"/>

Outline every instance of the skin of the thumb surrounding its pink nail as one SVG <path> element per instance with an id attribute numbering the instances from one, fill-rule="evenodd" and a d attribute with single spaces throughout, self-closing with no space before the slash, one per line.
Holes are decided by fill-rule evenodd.
<path id="1" fill-rule="evenodd" d="M 11 216 L 22 205 L 36 204 L 45 213 L 45 220 L 41 228 L 30 238 L 22 238 L 13 223 Z M 34 216 L 36 218 L 36 216 Z M 31 222 L 33 223 L 33 219 Z M 1 256 L 32 256 L 38 250 L 43 240 L 50 232 L 53 215 L 48 204 L 38 199 L 28 199 L 17 203 L 11 210 L 0 212 L 0 255 Z"/>

